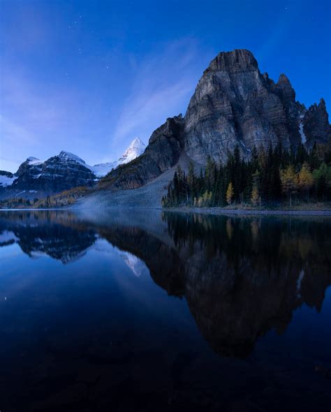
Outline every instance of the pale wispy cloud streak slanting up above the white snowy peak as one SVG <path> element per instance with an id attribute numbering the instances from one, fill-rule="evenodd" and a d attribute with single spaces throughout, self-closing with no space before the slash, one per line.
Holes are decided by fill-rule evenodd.
<path id="1" fill-rule="evenodd" d="M 132 61 L 131 57 L 131 61 Z M 198 46 L 192 39 L 175 41 L 144 61 L 136 74 L 115 128 L 113 145 L 149 135 L 167 117 L 184 111 L 200 75 Z"/>

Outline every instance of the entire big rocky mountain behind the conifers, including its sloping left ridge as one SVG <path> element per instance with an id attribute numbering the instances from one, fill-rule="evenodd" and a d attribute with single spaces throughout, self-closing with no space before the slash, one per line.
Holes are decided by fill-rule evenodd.
<path id="1" fill-rule="evenodd" d="M 286 75 L 274 82 L 260 73 L 248 50 L 221 52 L 200 78 L 186 115 L 167 119 L 149 139 L 145 153 L 101 179 L 101 189 L 133 189 L 174 166 L 182 154 L 205 165 L 208 156 L 226 161 L 239 145 L 249 157 L 254 146 L 325 144 L 331 128 L 325 101 L 309 109 L 295 101 Z"/>

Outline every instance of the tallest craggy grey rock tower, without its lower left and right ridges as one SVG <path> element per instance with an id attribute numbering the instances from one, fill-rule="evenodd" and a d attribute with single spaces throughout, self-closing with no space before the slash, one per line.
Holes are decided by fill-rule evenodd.
<path id="1" fill-rule="evenodd" d="M 205 163 L 225 161 L 239 145 L 249 156 L 254 145 L 297 147 L 300 111 L 286 75 L 277 83 L 248 50 L 220 53 L 203 73 L 185 116 L 184 147 Z"/>

